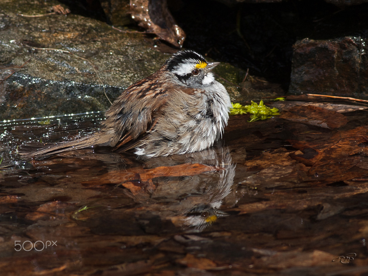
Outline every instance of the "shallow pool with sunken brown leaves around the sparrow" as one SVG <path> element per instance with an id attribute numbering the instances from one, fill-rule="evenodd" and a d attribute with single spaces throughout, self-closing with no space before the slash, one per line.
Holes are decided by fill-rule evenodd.
<path id="1" fill-rule="evenodd" d="M 26 162 L 18 145 L 91 134 L 103 114 L 4 121 L 2 272 L 368 271 L 367 107 L 267 105 L 280 115 L 252 123 L 231 116 L 212 148 L 151 159 L 92 148 Z M 332 261 L 350 253 L 349 265 Z"/>

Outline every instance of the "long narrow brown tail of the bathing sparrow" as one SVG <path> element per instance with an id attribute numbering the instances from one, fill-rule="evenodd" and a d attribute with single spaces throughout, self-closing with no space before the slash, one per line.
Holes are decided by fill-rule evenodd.
<path id="1" fill-rule="evenodd" d="M 18 153 L 22 158 L 30 159 L 35 156 L 52 155 L 65 151 L 74 151 L 76 149 L 89 148 L 91 146 L 106 144 L 104 141 L 106 135 L 103 132 L 96 132 L 87 137 L 79 138 L 73 141 L 60 142 L 55 144 L 28 143 L 18 148 Z"/>

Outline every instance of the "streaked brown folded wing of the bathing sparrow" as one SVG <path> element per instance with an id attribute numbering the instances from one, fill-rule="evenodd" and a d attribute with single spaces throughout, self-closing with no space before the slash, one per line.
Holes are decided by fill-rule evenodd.
<path id="1" fill-rule="evenodd" d="M 139 145 L 136 142 L 152 130 L 160 116 L 164 116 L 163 107 L 177 89 L 179 86 L 167 82 L 160 71 L 129 86 L 107 110 L 102 122 L 103 131 L 114 132 L 110 146 L 117 149 Z"/>

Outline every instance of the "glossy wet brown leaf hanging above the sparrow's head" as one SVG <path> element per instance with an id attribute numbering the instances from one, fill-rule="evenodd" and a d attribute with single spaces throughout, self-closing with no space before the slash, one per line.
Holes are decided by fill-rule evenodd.
<path id="1" fill-rule="evenodd" d="M 130 13 L 147 32 L 175 47 L 183 46 L 185 32 L 176 24 L 166 0 L 131 0 Z"/>

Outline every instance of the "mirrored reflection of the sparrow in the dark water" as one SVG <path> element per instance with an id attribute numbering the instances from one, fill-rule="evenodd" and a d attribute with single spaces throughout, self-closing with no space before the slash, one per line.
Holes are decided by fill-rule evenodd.
<path id="1" fill-rule="evenodd" d="M 213 171 L 194 176 L 190 171 L 181 177 L 158 177 L 153 179 L 155 190 L 141 190 L 137 194 L 128 194 L 162 220 L 171 220 L 176 226 L 184 226 L 188 231 L 202 231 L 226 215 L 219 208 L 223 199 L 231 192 L 235 174 L 235 165 L 227 148 L 210 148 L 202 152 L 186 155 L 173 155 L 169 158 L 148 160 L 145 165 L 158 167 L 178 163 L 200 163 L 213 166 Z"/>

